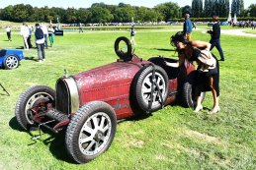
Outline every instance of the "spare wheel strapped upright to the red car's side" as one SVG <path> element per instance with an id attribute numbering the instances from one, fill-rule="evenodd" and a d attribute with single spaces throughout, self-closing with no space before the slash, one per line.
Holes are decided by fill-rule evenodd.
<path id="1" fill-rule="evenodd" d="M 154 85 L 153 96 L 155 97 L 153 97 L 153 102 L 150 108 L 153 68 L 155 68 L 155 81 L 160 88 L 162 97 L 160 97 L 156 85 Z M 133 97 L 131 100 L 135 100 L 135 105 L 144 112 L 154 112 L 162 108 L 168 97 L 168 76 L 159 66 L 145 66 L 135 75 L 132 82 L 132 90 Z"/>

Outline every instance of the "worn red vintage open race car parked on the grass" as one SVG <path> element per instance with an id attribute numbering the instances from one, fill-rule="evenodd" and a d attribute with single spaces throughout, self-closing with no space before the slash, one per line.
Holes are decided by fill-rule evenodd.
<path id="1" fill-rule="evenodd" d="M 125 47 L 123 48 L 124 45 Z M 148 114 L 184 93 L 186 106 L 194 105 L 187 78 L 194 66 L 178 68 L 152 57 L 148 61 L 132 52 L 128 38 L 115 41 L 117 62 L 58 79 L 55 90 L 35 85 L 24 91 L 16 104 L 16 118 L 24 130 L 44 127 L 54 133 L 66 128 L 68 154 L 77 163 L 88 162 L 111 145 L 117 120 Z M 185 88 L 184 88 L 185 86 Z"/>

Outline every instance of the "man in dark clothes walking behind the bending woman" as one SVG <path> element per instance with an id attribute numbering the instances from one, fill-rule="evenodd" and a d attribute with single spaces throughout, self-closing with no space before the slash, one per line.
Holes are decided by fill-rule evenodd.
<path id="1" fill-rule="evenodd" d="M 220 27 L 218 25 L 218 17 L 217 16 L 213 16 L 213 30 L 208 30 L 208 33 L 211 34 L 212 38 L 210 40 L 210 43 L 212 44 L 210 50 L 213 49 L 213 47 L 215 46 L 217 51 L 219 52 L 220 55 L 220 61 L 224 61 L 224 55 L 223 55 L 223 51 L 222 48 L 220 46 Z"/>

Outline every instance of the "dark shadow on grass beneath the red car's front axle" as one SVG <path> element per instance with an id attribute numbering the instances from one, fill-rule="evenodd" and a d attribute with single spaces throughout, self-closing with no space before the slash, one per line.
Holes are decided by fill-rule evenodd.
<path id="1" fill-rule="evenodd" d="M 19 123 L 16 119 L 16 117 L 13 117 L 10 122 L 9 126 L 16 131 L 21 131 L 24 132 L 24 130 L 19 126 Z M 34 130 L 37 128 L 34 128 Z M 35 133 L 34 133 L 35 132 Z M 41 132 L 41 137 L 40 131 L 28 131 L 28 134 L 31 136 L 32 142 L 29 143 L 28 145 L 34 145 L 37 142 L 43 142 L 45 145 L 49 146 L 49 151 L 51 154 L 58 160 L 65 161 L 67 163 L 72 163 L 76 164 L 69 156 L 66 151 L 65 147 L 65 131 L 60 131 L 58 134 L 54 134 L 51 131 L 43 129 Z M 48 134 L 50 137 L 44 139 L 43 134 Z"/>

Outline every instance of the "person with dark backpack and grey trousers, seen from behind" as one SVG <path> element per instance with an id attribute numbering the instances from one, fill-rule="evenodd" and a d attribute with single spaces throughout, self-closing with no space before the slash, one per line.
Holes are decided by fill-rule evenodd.
<path id="1" fill-rule="evenodd" d="M 36 24 L 35 37 L 36 37 L 36 44 L 38 48 L 39 62 L 42 62 L 42 60 L 45 61 L 44 35 L 43 35 L 43 29 L 40 27 L 40 24 Z"/>

